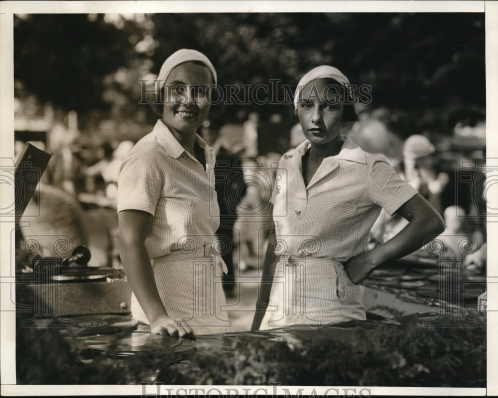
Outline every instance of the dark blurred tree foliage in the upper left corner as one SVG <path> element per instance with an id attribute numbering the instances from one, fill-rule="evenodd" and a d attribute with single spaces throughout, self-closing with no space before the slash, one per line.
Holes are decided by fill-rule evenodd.
<path id="1" fill-rule="evenodd" d="M 135 28 L 118 29 L 103 14 L 14 16 L 15 94 L 76 110 L 83 125 L 86 118 L 109 114 L 120 98 L 109 101 L 103 94 L 119 84 L 106 78 L 140 56 L 128 41 Z"/>

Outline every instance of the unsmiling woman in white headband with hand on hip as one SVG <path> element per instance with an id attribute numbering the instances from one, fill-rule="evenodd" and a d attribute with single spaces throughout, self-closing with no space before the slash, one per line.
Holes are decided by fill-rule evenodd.
<path id="1" fill-rule="evenodd" d="M 441 216 L 389 166 L 341 135 L 356 114 L 349 80 L 320 66 L 299 81 L 295 115 L 307 140 L 279 161 L 270 239 L 252 329 L 366 319 L 358 283 L 444 230 Z M 380 209 L 409 221 L 366 251 Z M 277 216 L 282 215 L 282 216 Z"/>

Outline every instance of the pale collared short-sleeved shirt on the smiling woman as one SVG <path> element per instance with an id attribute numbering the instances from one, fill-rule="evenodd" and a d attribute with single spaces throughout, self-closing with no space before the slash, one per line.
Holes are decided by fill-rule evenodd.
<path id="1" fill-rule="evenodd" d="M 196 142 L 204 149 L 206 169 L 158 120 L 121 166 L 118 212 L 141 210 L 154 216 L 145 239 L 151 258 L 193 242 L 202 248 L 215 238 L 220 211 L 214 180 L 209 178 L 215 155 L 198 135 Z"/>

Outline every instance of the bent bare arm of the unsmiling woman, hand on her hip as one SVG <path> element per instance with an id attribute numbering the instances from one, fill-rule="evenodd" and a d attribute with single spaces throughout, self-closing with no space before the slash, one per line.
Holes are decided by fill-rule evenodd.
<path id="1" fill-rule="evenodd" d="M 352 257 L 344 264 L 353 283 L 362 282 L 380 264 L 412 253 L 427 243 L 428 236 L 444 231 L 441 215 L 419 193 L 405 202 L 396 214 L 408 221 L 405 228 L 380 246 Z"/>

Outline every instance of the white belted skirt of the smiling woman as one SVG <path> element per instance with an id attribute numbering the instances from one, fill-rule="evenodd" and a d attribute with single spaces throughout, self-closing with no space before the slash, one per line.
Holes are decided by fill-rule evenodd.
<path id="1" fill-rule="evenodd" d="M 221 260 L 221 259 L 219 259 Z M 196 335 L 230 331 L 222 287 L 222 265 L 213 257 L 193 258 L 180 252 L 151 259 L 159 296 L 168 316 L 187 323 Z M 131 294 L 131 315 L 149 324 L 135 295 Z"/>

